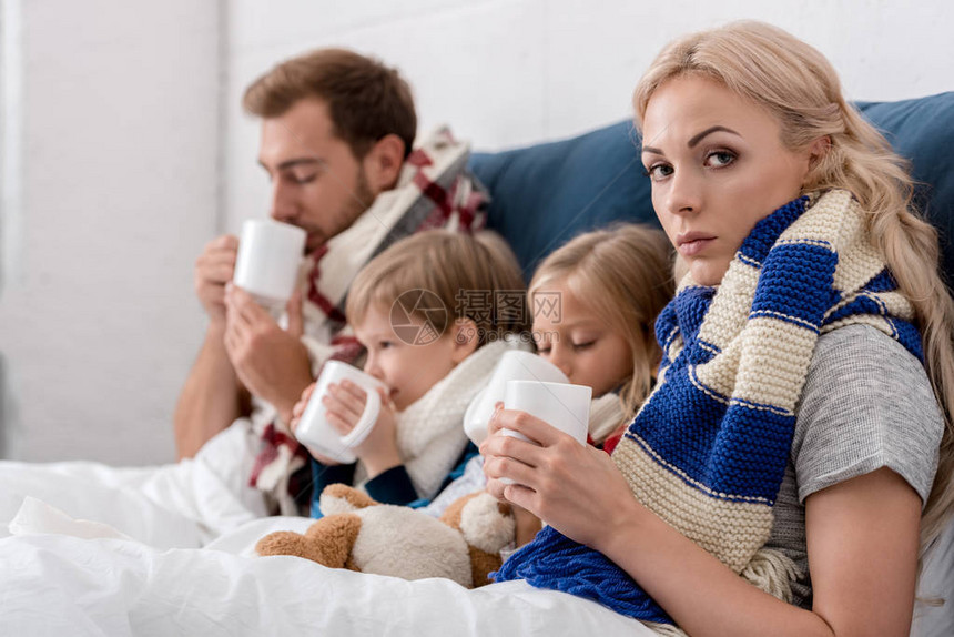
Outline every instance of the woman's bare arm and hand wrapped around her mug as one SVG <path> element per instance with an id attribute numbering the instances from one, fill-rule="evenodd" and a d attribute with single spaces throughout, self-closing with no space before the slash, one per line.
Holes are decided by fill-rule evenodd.
<path id="1" fill-rule="evenodd" d="M 503 427 L 540 446 L 504 436 Z M 487 491 L 603 553 L 690 635 L 831 637 L 910 629 L 921 501 L 889 468 L 806 499 L 812 611 L 755 588 L 656 517 L 605 453 L 522 412 L 498 410 L 489 433 L 480 446 Z"/>

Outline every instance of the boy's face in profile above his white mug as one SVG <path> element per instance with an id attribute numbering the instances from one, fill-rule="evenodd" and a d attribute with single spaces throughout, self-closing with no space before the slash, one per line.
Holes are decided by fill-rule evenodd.
<path id="1" fill-rule="evenodd" d="M 404 411 L 444 378 L 463 360 L 454 340 L 453 325 L 426 345 L 408 345 L 397 337 L 390 313 L 369 307 L 361 323 L 352 325 L 355 336 L 367 348 L 364 371 L 390 388 L 390 398 Z"/>

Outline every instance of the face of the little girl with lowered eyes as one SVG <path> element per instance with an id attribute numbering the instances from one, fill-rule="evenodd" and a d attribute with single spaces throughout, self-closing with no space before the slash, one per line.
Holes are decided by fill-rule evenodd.
<path id="1" fill-rule="evenodd" d="M 556 365 L 575 385 L 592 387 L 593 397 L 618 387 L 632 375 L 632 351 L 622 337 L 577 299 L 565 283 L 539 292 L 559 293 L 560 315 L 534 317 L 540 356 Z"/>

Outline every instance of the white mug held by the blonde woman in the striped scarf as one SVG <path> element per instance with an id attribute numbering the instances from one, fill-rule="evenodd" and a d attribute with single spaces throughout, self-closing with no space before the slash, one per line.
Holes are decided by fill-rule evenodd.
<path id="1" fill-rule="evenodd" d="M 592 387 L 586 385 L 507 381 L 504 408 L 527 412 L 585 445 L 589 432 L 592 393 Z M 512 429 L 504 428 L 500 433 L 528 443 L 532 442 Z M 501 478 L 500 482 L 514 484 L 509 478 Z"/>

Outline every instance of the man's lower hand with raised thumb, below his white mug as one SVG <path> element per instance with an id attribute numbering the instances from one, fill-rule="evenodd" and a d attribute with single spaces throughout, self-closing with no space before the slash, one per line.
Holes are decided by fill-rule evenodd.
<path id="1" fill-rule="evenodd" d="M 225 292 L 225 351 L 238 380 L 254 395 L 267 401 L 286 423 L 302 391 L 312 382 L 308 352 L 301 342 L 302 297 L 288 301 L 288 331 L 247 292 L 229 286 Z"/>

